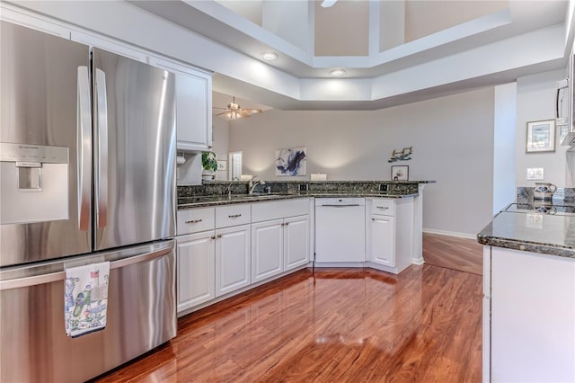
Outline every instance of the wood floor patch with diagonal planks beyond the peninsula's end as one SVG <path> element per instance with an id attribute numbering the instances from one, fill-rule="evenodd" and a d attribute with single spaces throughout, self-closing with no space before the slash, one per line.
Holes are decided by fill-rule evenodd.
<path id="1" fill-rule="evenodd" d="M 423 233 L 423 259 L 427 264 L 483 274 L 483 245 L 474 239 Z"/>

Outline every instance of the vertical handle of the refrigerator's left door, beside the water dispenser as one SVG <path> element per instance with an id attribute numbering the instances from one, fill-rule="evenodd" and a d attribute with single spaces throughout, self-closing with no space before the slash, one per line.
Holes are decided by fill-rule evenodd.
<path id="1" fill-rule="evenodd" d="M 90 76 L 88 67 L 78 67 L 77 81 L 77 177 L 78 227 L 90 227 L 90 189 L 92 185 L 92 112 L 90 111 Z"/>

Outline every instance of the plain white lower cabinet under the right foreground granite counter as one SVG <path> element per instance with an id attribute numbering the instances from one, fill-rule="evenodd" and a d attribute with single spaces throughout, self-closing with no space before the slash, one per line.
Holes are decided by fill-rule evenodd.
<path id="1" fill-rule="evenodd" d="M 575 381 L 575 259 L 491 247 L 483 280 L 483 381 Z"/>

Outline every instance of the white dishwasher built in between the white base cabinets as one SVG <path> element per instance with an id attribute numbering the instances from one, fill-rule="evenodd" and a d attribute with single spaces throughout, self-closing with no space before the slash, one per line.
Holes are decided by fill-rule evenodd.
<path id="1" fill-rule="evenodd" d="M 366 261 L 366 200 L 315 199 L 315 262 Z"/>

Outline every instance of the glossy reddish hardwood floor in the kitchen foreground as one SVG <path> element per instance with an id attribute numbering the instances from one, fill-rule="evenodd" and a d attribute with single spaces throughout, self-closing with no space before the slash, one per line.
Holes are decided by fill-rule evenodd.
<path id="1" fill-rule="evenodd" d="M 179 320 L 100 382 L 479 382 L 482 278 L 302 270 Z"/>

